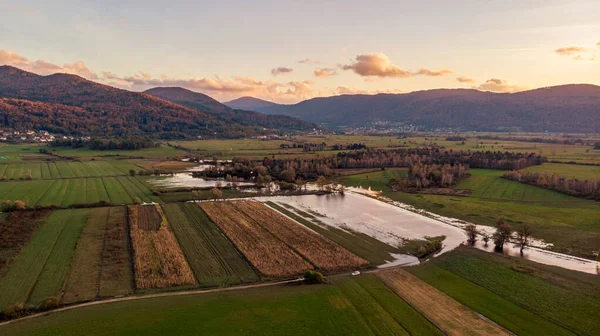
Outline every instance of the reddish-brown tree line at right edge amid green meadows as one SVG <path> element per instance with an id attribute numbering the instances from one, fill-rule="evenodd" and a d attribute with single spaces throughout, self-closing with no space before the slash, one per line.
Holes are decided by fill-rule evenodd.
<path id="1" fill-rule="evenodd" d="M 600 201 L 600 181 L 578 180 L 548 173 L 534 173 L 524 170 L 511 170 L 503 178 L 538 187 L 551 189 L 563 194 Z"/>

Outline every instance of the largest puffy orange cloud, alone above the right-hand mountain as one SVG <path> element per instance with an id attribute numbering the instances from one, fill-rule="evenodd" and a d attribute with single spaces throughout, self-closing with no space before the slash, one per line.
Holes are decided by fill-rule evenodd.
<path id="1" fill-rule="evenodd" d="M 341 66 L 344 70 L 352 70 L 360 76 L 376 77 L 411 77 L 412 73 L 392 64 L 390 59 L 383 53 L 371 53 L 356 56 L 352 64 Z"/>

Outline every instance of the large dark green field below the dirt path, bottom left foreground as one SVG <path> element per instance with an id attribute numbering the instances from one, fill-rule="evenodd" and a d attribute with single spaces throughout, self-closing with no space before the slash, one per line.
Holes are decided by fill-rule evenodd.
<path id="1" fill-rule="evenodd" d="M 169 307 L 165 309 L 165 307 Z M 3 335 L 441 335 L 374 276 L 86 307 L 0 327 Z"/>

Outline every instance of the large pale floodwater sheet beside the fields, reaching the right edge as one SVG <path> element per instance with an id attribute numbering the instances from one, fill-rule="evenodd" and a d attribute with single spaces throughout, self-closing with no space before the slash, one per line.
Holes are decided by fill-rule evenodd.
<path id="1" fill-rule="evenodd" d="M 461 244 L 466 244 L 467 236 L 462 228 L 469 223 L 414 209 L 406 204 L 385 198 L 374 199 L 362 195 L 360 192 L 360 190 L 353 189 L 344 195 L 276 196 L 258 198 L 258 200 L 282 202 L 300 210 L 316 212 L 324 216 L 319 220 L 326 225 L 361 232 L 392 246 L 401 245 L 403 238 L 422 239 L 444 235 L 446 236 L 443 242 L 444 246 L 435 256 L 451 251 Z M 485 232 L 493 231 L 493 228 L 486 226 L 477 226 L 477 229 Z M 600 263 L 541 248 L 548 246 L 551 245 L 534 240 L 532 246 L 525 248 L 521 255 L 520 247 L 513 243 L 507 243 L 504 246 L 504 254 L 522 257 L 541 264 L 598 274 Z M 494 252 L 492 242 L 486 246 L 483 241 L 477 241 L 474 247 L 482 251 L 497 253 Z M 383 266 L 418 263 L 418 260 L 415 262 L 416 258 L 411 256 L 395 255 L 393 257 L 394 262 Z"/>

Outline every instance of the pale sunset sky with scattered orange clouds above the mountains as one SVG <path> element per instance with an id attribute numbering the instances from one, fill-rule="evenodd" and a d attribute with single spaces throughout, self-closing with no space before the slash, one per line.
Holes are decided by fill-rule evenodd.
<path id="1" fill-rule="evenodd" d="M 600 85 L 599 0 L 0 0 L 0 65 L 219 101 Z"/>

